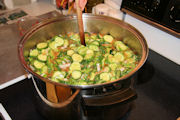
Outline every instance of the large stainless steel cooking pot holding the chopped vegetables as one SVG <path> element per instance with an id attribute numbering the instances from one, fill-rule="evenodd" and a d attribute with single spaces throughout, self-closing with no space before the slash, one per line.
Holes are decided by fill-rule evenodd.
<path id="1" fill-rule="evenodd" d="M 66 116 L 64 119 L 72 119 L 72 117 L 69 118 L 69 116 L 75 116 L 73 117 L 73 119 L 79 119 L 79 117 L 76 116 L 78 116 L 79 114 L 79 106 L 82 106 L 80 104 L 85 104 L 85 106 L 93 107 L 103 106 L 104 108 L 104 106 L 111 106 L 122 101 L 126 101 L 135 95 L 135 92 L 132 92 L 132 90 L 128 87 L 131 84 L 130 81 L 132 75 L 141 68 L 141 66 L 146 61 L 148 55 L 148 46 L 142 34 L 131 25 L 111 17 L 83 14 L 83 22 L 85 32 L 111 34 L 114 38 L 123 40 L 125 44 L 127 44 L 138 56 L 140 56 L 140 61 L 136 68 L 129 74 L 115 81 L 107 83 L 93 85 L 67 85 L 63 83 L 53 82 L 49 79 L 46 79 L 36 74 L 30 68 L 30 66 L 27 64 L 27 57 L 29 55 L 29 51 L 30 49 L 34 48 L 37 43 L 51 39 L 56 35 L 66 34 L 68 32 L 77 33 L 77 16 L 60 16 L 57 18 L 43 21 L 33 26 L 29 31 L 26 32 L 26 34 L 20 40 L 18 44 L 18 53 L 20 61 L 25 70 L 32 74 L 35 78 L 33 78 L 33 83 L 34 88 L 36 89 L 36 93 L 38 94 L 38 96 L 36 96 L 38 101 L 36 106 L 38 109 L 40 109 L 39 111 L 47 118 L 55 119 L 53 116 L 57 116 L 58 119 L 59 117 L 62 118 L 62 116 Z M 122 82 L 122 84 L 124 84 L 124 81 L 126 84 L 124 86 L 128 87 L 124 90 L 120 90 L 120 92 L 111 92 L 109 94 L 104 95 L 103 97 L 102 95 L 97 95 L 95 97 L 91 97 L 92 99 L 90 97 L 82 97 L 83 92 L 81 91 L 83 90 L 104 87 L 119 82 Z M 38 87 L 38 84 L 41 84 L 42 82 L 45 83 L 45 87 Z M 44 91 L 42 91 L 40 88 L 46 89 L 45 94 L 43 94 Z M 70 88 L 73 88 L 73 90 L 70 90 Z M 57 98 L 60 98 L 58 100 L 63 99 L 63 101 L 57 101 Z M 106 112 L 102 112 L 102 114 L 108 115 L 109 111 L 114 109 L 114 107 L 107 107 Z M 125 106 L 121 107 L 120 109 L 125 111 L 128 110 Z M 119 111 L 119 108 L 117 108 L 116 111 Z M 121 113 L 125 112 L 121 111 Z M 118 115 L 119 112 L 116 112 L 114 113 L 114 115 L 111 116 Z M 106 116 L 104 118 L 109 119 Z"/>

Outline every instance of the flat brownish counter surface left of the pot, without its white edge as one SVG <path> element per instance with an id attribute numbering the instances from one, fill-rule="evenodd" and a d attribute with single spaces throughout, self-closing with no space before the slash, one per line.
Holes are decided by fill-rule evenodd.
<path id="1" fill-rule="evenodd" d="M 28 30 L 36 21 L 60 16 L 56 11 L 37 17 L 23 18 L 21 26 Z M 25 32 L 25 31 L 24 31 Z M 27 74 L 18 59 L 18 42 L 21 39 L 17 23 L 0 26 L 0 84 Z"/>

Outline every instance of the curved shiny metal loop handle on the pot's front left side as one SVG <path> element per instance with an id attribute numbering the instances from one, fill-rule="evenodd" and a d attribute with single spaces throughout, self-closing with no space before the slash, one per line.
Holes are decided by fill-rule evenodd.
<path id="1" fill-rule="evenodd" d="M 34 87 L 36 89 L 36 92 L 38 93 L 39 97 L 46 103 L 48 104 L 49 106 L 52 106 L 52 107 L 55 107 L 55 108 L 59 108 L 59 107 L 64 107 L 66 106 L 67 104 L 70 104 L 74 99 L 75 97 L 79 94 L 80 90 L 76 90 L 76 92 L 70 97 L 68 98 L 66 101 L 64 102 L 61 102 L 61 103 L 53 103 L 53 102 L 50 102 L 49 100 L 47 100 L 43 95 L 42 93 L 40 92 L 37 84 L 36 84 L 36 81 L 34 79 L 34 77 L 31 75 L 31 78 L 32 78 L 32 81 L 33 81 L 33 84 L 34 84 Z"/>

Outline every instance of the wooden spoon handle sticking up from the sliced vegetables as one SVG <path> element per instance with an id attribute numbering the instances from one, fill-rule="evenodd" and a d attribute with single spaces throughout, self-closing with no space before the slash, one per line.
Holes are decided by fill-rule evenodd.
<path id="1" fill-rule="evenodd" d="M 82 11 L 79 7 L 79 0 L 75 0 L 76 2 L 76 13 L 77 13 L 77 20 L 78 20 L 78 27 L 79 27 L 79 35 L 82 45 L 86 45 L 85 37 L 84 37 L 84 28 L 83 28 L 83 20 L 82 20 Z"/>

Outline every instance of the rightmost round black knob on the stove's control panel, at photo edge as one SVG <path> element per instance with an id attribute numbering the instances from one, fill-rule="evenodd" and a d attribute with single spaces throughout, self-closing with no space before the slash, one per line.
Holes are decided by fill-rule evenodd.
<path id="1" fill-rule="evenodd" d="M 169 17 L 176 23 L 180 22 L 180 4 L 176 4 L 171 7 Z"/>

